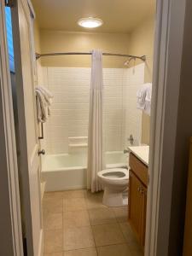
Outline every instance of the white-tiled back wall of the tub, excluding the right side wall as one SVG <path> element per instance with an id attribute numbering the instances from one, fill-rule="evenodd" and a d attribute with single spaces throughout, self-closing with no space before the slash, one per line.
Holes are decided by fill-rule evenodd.
<path id="1" fill-rule="evenodd" d="M 87 137 L 90 107 L 90 68 L 44 67 L 54 94 L 47 124 L 48 154 L 69 153 L 69 137 Z M 123 69 L 103 69 L 104 138 L 107 151 L 122 150 Z"/>

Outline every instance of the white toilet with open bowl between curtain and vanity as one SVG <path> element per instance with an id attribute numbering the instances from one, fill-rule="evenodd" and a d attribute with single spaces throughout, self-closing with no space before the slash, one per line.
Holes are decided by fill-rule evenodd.
<path id="1" fill-rule="evenodd" d="M 97 173 L 104 188 L 102 203 L 108 207 L 127 205 L 123 192 L 128 188 L 129 172 L 124 168 L 106 169 Z"/>

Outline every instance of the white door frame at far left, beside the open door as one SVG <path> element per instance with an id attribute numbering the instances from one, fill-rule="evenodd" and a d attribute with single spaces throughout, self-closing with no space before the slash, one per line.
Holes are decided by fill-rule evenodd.
<path id="1" fill-rule="evenodd" d="M 22 256 L 15 124 L 4 20 L 4 1 L 0 0 L 0 255 Z"/>

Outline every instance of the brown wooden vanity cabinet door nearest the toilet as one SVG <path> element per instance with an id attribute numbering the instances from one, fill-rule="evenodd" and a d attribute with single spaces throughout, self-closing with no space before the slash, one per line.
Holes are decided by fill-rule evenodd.
<path id="1" fill-rule="evenodd" d="M 141 230 L 141 214 L 143 196 L 141 193 L 142 184 L 140 180 L 130 170 L 129 178 L 129 222 L 133 230 L 137 234 L 137 238 L 140 241 Z"/>

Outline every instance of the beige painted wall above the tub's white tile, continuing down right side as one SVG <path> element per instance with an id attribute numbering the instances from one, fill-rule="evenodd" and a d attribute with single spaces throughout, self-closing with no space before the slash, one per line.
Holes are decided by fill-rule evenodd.
<path id="1" fill-rule="evenodd" d="M 131 55 L 147 55 L 145 82 L 152 81 L 154 55 L 154 18 L 144 20 L 131 34 L 60 32 L 38 29 L 34 26 L 35 46 L 37 52 L 67 52 L 103 49 Z M 103 58 L 103 67 L 124 67 L 126 59 L 119 57 Z M 41 59 L 43 66 L 49 67 L 90 67 L 90 56 L 51 56 Z M 139 61 L 137 62 L 139 63 Z M 150 118 L 143 113 L 142 142 L 149 143 Z"/>

